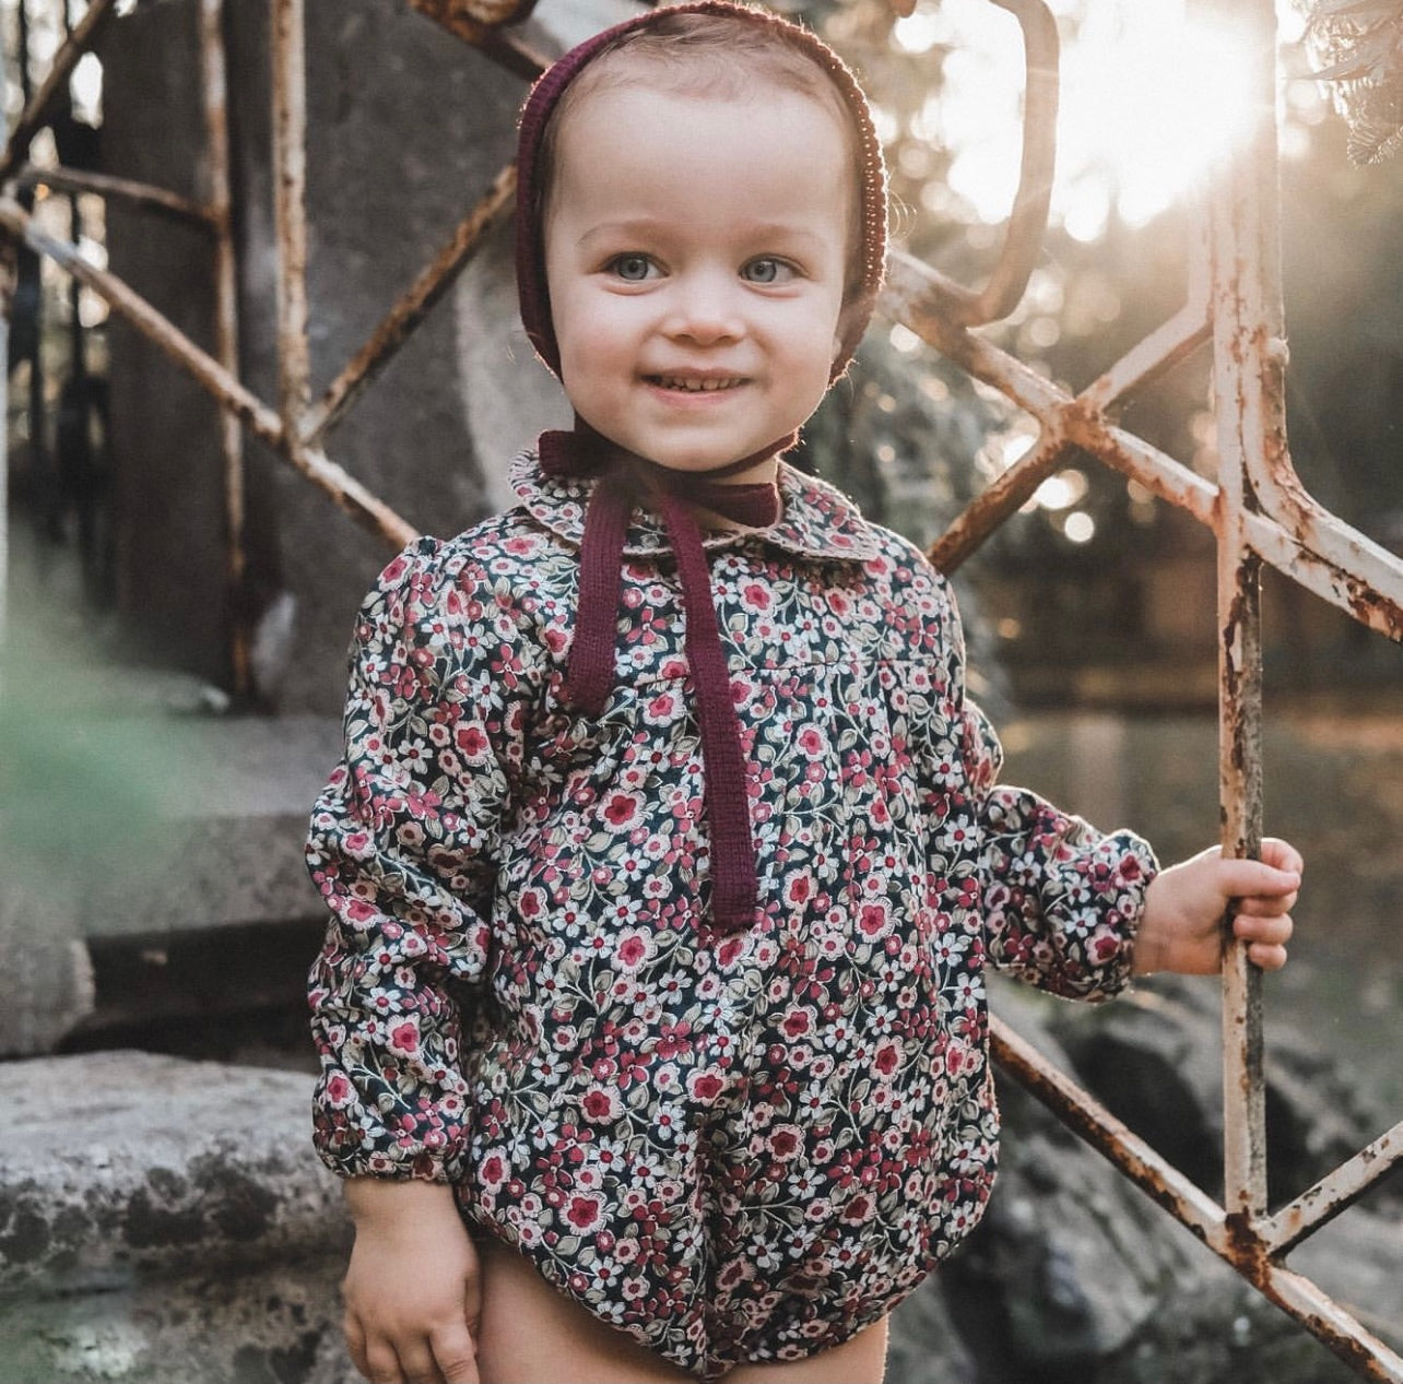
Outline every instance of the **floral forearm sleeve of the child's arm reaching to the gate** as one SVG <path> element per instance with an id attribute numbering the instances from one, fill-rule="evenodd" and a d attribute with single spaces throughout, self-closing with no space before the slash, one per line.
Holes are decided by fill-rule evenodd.
<path id="1" fill-rule="evenodd" d="M 1159 869 L 1153 851 L 1132 832 L 1101 834 L 1026 788 L 999 784 L 998 736 L 972 703 L 962 719 L 989 961 L 1052 994 L 1110 998 L 1131 977 L 1145 892 Z"/>

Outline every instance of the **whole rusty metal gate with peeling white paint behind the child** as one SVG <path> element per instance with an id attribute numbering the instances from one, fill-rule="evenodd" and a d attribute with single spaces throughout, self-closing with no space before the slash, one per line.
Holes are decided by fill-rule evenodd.
<path id="1" fill-rule="evenodd" d="M 7 251 L 25 243 L 98 293 L 160 346 L 220 404 L 229 531 L 229 581 L 243 578 L 241 426 L 323 489 L 362 526 L 398 548 L 415 534 L 323 450 L 327 429 L 408 338 L 512 203 L 515 172 L 505 168 L 408 286 L 361 351 L 313 401 L 309 393 L 304 213 L 304 0 L 269 0 L 274 72 L 274 164 L 278 226 L 278 400 L 271 405 L 237 377 L 234 252 L 230 238 L 223 0 L 199 0 L 208 201 L 194 205 L 159 188 L 27 163 L 55 94 L 112 15 L 116 0 L 90 0 L 34 93 L 0 158 L 0 230 Z M 511 29 L 532 0 L 408 0 L 450 34 L 522 79 L 543 66 Z M 1291 464 L 1284 418 L 1287 348 L 1277 236 L 1277 70 L 1273 0 L 1223 0 L 1250 31 L 1254 128 L 1216 170 L 1202 243 L 1188 275 L 1186 306 L 1075 397 L 1034 373 L 971 328 L 1009 316 L 1033 271 L 1047 226 L 1058 102 L 1058 32 L 1044 0 L 991 0 L 1023 31 L 1026 101 L 1021 184 L 999 264 L 975 292 L 899 252 L 888 265 L 881 311 L 929 342 L 976 380 L 1002 391 L 1040 426 L 1035 445 L 998 477 L 932 550 L 946 571 L 1024 505 L 1079 449 L 1212 530 L 1218 547 L 1218 637 L 1222 846 L 1253 855 L 1261 836 L 1261 632 L 1258 578 L 1270 565 L 1354 620 L 1403 639 L 1403 561 L 1343 524 L 1306 494 Z M 208 227 L 215 238 L 217 338 L 201 351 L 121 279 L 77 245 L 42 231 L 17 188 L 95 192 L 160 208 Z M 1216 398 L 1216 484 L 1117 426 L 1111 405 L 1125 400 L 1201 346 L 1211 346 Z M 3 512 L 0 512 L 3 515 Z M 234 670 L 248 676 L 247 632 L 236 631 Z M 1087 1092 L 998 1018 L 999 1066 L 1079 1137 L 1110 1158 L 1194 1231 L 1260 1293 L 1317 1336 L 1361 1377 L 1403 1384 L 1403 1357 L 1338 1303 L 1287 1265 L 1308 1235 L 1357 1202 L 1403 1161 L 1403 1122 L 1336 1168 L 1289 1205 L 1267 1205 L 1261 976 L 1246 948 L 1228 944 L 1223 965 L 1225 1186 L 1218 1205 Z"/>

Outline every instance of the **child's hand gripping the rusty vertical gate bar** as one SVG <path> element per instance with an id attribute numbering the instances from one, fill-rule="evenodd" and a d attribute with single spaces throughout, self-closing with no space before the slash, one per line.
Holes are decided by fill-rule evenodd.
<path id="1" fill-rule="evenodd" d="M 1236 900 L 1233 937 L 1263 970 L 1287 963 L 1291 913 L 1301 888 L 1301 853 L 1285 841 L 1261 843 L 1261 860 L 1223 860 L 1215 846 L 1162 871 L 1145 896 L 1135 942 L 1135 975 L 1177 970 L 1208 976 L 1222 968 L 1221 924 Z"/>

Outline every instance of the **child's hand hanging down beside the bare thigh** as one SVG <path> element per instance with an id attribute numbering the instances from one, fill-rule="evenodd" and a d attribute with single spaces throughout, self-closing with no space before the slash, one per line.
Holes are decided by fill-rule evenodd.
<path id="1" fill-rule="evenodd" d="M 477 1251 L 438 1182 L 351 1178 L 347 1345 L 373 1384 L 477 1384 Z"/>

